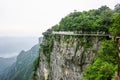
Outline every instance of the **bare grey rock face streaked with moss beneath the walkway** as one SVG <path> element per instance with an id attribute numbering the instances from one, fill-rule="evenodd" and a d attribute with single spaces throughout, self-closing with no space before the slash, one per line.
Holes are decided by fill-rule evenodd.
<path id="1" fill-rule="evenodd" d="M 81 80 L 87 66 L 91 64 L 100 48 L 98 37 L 53 35 L 50 62 L 44 51 L 40 52 L 36 80 Z M 43 40 L 44 45 L 46 40 Z"/>

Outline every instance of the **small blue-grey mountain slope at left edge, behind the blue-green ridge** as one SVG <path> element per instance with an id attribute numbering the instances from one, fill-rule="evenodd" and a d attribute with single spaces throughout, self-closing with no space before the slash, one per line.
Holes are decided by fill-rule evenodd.
<path id="1" fill-rule="evenodd" d="M 0 75 L 5 69 L 9 68 L 14 62 L 16 62 L 16 57 L 2 58 L 0 57 Z"/>

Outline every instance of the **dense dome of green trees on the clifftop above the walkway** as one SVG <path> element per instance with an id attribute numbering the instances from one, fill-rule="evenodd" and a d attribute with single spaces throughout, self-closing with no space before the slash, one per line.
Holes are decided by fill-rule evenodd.
<path id="1" fill-rule="evenodd" d="M 55 31 L 106 31 L 112 23 L 113 11 L 102 6 L 88 12 L 73 12 L 63 18 L 59 24 L 53 26 Z"/>

